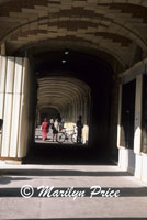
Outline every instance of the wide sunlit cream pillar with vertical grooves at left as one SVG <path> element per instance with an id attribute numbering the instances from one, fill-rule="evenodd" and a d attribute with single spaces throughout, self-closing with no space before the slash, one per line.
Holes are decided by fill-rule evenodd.
<path id="1" fill-rule="evenodd" d="M 29 144 L 29 61 L 0 56 L 0 157 L 22 158 Z"/>

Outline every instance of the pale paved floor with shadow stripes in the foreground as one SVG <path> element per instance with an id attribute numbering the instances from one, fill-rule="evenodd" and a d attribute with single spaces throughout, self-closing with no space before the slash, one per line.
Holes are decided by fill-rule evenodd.
<path id="1" fill-rule="evenodd" d="M 113 164 L 1 164 L 0 174 L 0 219 L 3 220 L 147 219 L 147 186 Z M 31 198 L 21 196 L 24 185 L 33 187 Z M 41 186 L 48 186 L 44 197 L 38 197 Z M 105 191 L 105 196 L 114 193 L 116 196 L 117 190 L 118 197 L 104 197 Z M 31 189 L 22 193 L 30 196 Z"/>

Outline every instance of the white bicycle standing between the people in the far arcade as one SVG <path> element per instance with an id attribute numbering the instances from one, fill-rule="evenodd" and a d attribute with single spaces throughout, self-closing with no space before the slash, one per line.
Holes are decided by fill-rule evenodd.
<path id="1" fill-rule="evenodd" d="M 66 128 L 64 129 L 65 131 L 58 133 L 58 142 L 63 143 L 65 141 L 68 141 L 68 142 L 77 143 L 77 131 L 75 130 L 75 127 L 74 127 L 74 130 L 68 130 Z"/>

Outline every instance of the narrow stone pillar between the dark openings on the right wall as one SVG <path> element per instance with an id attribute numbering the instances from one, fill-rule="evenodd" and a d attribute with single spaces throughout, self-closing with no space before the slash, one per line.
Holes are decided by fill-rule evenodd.
<path id="1" fill-rule="evenodd" d="M 135 134 L 134 134 L 134 152 L 140 153 L 142 142 L 142 91 L 143 75 L 136 77 L 136 99 L 135 99 Z"/>

